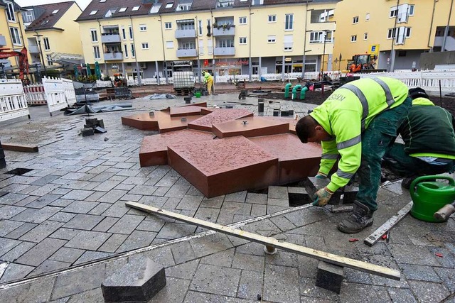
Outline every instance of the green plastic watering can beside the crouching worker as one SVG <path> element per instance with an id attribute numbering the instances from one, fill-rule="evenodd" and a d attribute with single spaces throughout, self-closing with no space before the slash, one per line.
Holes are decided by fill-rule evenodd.
<path id="1" fill-rule="evenodd" d="M 448 180 L 436 182 L 435 179 Z M 427 181 L 426 180 L 431 180 Z M 417 177 L 410 186 L 412 197 L 411 215 L 419 220 L 427 222 L 444 222 L 435 219 L 433 214 L 446 204 L 451 204 L 455 200 L 455 181 L 446 176 L 423 176 Z"/>

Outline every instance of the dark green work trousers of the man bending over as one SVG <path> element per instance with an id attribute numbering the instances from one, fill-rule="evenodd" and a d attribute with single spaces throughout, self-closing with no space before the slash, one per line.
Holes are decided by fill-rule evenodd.
<path id="1" fill-rule="evenodd" d="M 376 197 L 381 178 L 381 159 L 397 137 L 397 128 L 405 121 L 412 105 L 407 99 L 399 106 L 383 111 L 370 122 L 362 135 L 362 160 L 358 169 L 359 188 L 355 198 L 372 211 L 378 209 Z"/>

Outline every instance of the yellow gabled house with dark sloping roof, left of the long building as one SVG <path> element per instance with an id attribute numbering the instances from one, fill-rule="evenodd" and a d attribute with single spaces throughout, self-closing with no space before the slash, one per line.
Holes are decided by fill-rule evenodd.
<path id="1" fill-rule="evenodd" d="M 41 63 L 41 73 L 72 71 L 83 62 L 79 24 L 75 22 L 80 13 L 75 1 L 23 7 L 31 65 Z"/>

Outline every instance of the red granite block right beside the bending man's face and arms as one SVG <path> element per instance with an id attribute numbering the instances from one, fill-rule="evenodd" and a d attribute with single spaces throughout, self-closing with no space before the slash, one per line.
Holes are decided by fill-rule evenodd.
<path id="1" fill-rule="evenodd" d="M 322 150 L 317 143 L 301 143 L 291 133 L 250 140 L 279 158 L 279 184 L 300 181 L 304 177 L 316 175 L 319 170 Z"/>

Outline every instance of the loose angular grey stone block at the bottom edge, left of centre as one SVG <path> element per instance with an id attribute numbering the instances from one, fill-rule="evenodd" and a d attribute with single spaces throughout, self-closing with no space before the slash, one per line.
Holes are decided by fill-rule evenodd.
<path id="1" fill-rule="evenodd" d="M 101 290 L 105 302 L 148 302 L 164 286 L 164 267 L 149 258 L 138 258 L 107 277 Z"/>

